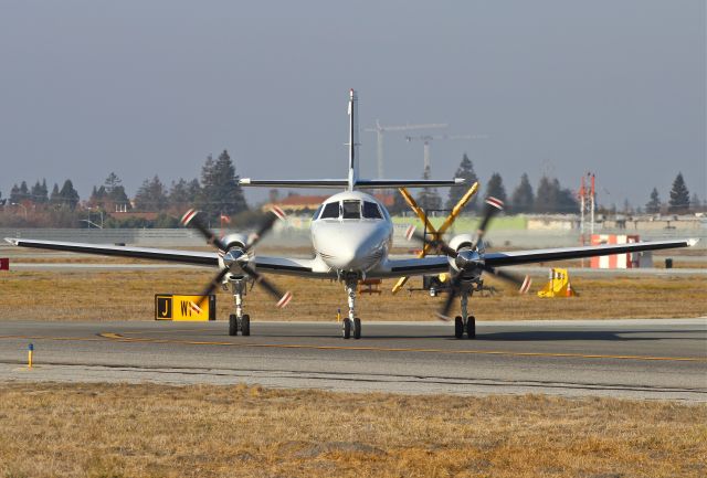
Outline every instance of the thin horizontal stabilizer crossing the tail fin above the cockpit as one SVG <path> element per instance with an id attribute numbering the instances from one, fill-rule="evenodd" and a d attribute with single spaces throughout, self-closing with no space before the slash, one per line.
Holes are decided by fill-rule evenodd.
<path id="1" fill-rule="evenodd" d="M 383 189 L 383 188 L 442 188 L 462 185 L 466 180 L 455 178 L 452 180 L 436 179 L 358 179 L 354 189 Z M 285 180 L 255 180 L 243 178 L 239 184 L 244 187 L 261 188 L 310 188 L 310 189 L 346 189 L 346 179 L 285 179 Z"/>

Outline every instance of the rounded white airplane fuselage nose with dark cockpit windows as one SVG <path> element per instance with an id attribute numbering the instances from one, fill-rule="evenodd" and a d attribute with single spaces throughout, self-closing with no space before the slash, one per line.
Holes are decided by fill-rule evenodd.
<path id="1" fill-rule="evenodd" d="M 384 205 L 361 191 L 328 198 L 312 221 L 312 242 L 321 261 L 340 273 L 366 273 L 388 257 L 393 224 Z"/>

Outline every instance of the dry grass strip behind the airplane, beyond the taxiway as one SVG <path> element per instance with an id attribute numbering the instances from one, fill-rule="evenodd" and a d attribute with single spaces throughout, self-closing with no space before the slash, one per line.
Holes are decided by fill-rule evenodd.
<path id="1" fill-rule="evenodd" d="M 198 294 L 211 278 L 209 269 L 123 272 L 3 272 L 0 273 L 0 320 L 149 320 L 155 294 Z M 246 296 L 253 320 L 335 320 L 337 308 L 346 308 L 342 286 L 330 280 L 271 276 L 294 293 L 291 305 L 279 310 L 256 286 Z M 532 291 L 545 277 L 535 277 Z M 411 283 L 419 286 L 420 278 Z M 393 282 L 383 283 L 380 296 L 363 295 L 360 316 L 366 320 L 430 320 L 443 297 L 425 293 L 390 294 Z M 478 320 L 504 319 L 608 319 L 674 318 L 707 315 L 707 279 L 679 277 L 574 278 L 579 297 L 542 299 L 519 296 L 504 283 L 487 279 L 498 293 L 474 296 L 472 308 Z M 219 293 L 218 319 L 232 310 L 232 297 Z"/>

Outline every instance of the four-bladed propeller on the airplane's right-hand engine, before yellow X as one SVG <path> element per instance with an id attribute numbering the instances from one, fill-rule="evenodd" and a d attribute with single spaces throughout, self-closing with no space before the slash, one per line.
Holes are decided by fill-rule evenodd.
<path id="1" fill-rule="evenodd" d="M 494 276 L 498 277 L 502 280 L 513 284 L 518 287 L 518 291 L 520 294 L 526 294 L 530 289 L 530 277 L 525 276 L 524 278 L 519 278 L 513 274 L 506 273 L 504 270 L 494 268 L 488 266 L 484 262 L 484 251 L 479 249 L 479 245 L 483 244 L 484 235 L 488 229 L 488 224 L 490 220 L 504 209 L 504 203 L 499 199 L 496 198 L 487 198 L 486 199 L 486 211 L 484 213 L 484 217 L 478 225 L 476 231 L 476 242 L 471 247 L 463 247 L 460 251 L 451 247 L 442 240 L 432 238 L 428 240 L 424 235 L 420 234 L 415 231 L 414 226 L 410 226 L 405 233 L 407 238 L 410 241 L 411 238 L 415 238 L 420 241 L 422 244 L 430 244 L 430 246 L 437 251 L 440 254 L 444 254 L 447 257 L 454 259 L 454 265 L 458 269 L 453 274 L 452 280 L 450 283 L 450 293 L 444 301 L 444 305 L 436 314 L 441 320 L 449 321 L 451 320 L 450 310 L 452 309 L 452 305 L 454 299 L 460 294 L 462 282 L 464 280 L 464 274 L 472 270 L 484 270 Z"/>

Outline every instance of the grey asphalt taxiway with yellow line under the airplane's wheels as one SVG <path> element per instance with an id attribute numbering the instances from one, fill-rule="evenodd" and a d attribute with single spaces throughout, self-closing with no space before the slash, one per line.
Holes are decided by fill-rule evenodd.
<path id="1" fill-rule="evenodd" d="M 249 383 L 352 392 L 707 401 L 707 318 L 441 322 L 0 322 L 0 381 Z M 27 367 L 28 344 L 34 367 Z"/>

